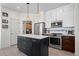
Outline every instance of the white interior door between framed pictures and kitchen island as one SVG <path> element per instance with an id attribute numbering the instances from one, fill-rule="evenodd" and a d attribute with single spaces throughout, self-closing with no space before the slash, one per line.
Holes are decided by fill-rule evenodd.
<path id="1" fill-rule="evenodd" d="M 10 22 L 10 45 L 17 44 L 17 36 L 20 33 L 19 19 L 11 18 Z"/>

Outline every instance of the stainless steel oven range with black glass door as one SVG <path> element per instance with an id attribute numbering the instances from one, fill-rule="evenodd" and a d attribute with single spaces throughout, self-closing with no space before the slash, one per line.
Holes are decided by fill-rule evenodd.
<path id="1" fill-rule="evenodd" d="M 61 49 L 62 33 L 52 33 L 50 36 L 50 47 Z"/>

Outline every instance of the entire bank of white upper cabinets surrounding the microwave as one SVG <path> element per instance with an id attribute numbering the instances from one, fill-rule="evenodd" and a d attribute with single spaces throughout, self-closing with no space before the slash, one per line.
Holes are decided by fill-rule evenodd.
<path id="1" fill-rule="evenodd" d="M 45 14 L 46 28 L 51 27 L 51 22 L 62 21 L 63 27 L 74 26 L 73 4 L 64 5 L 56 9 L 52 9 Z"/>

